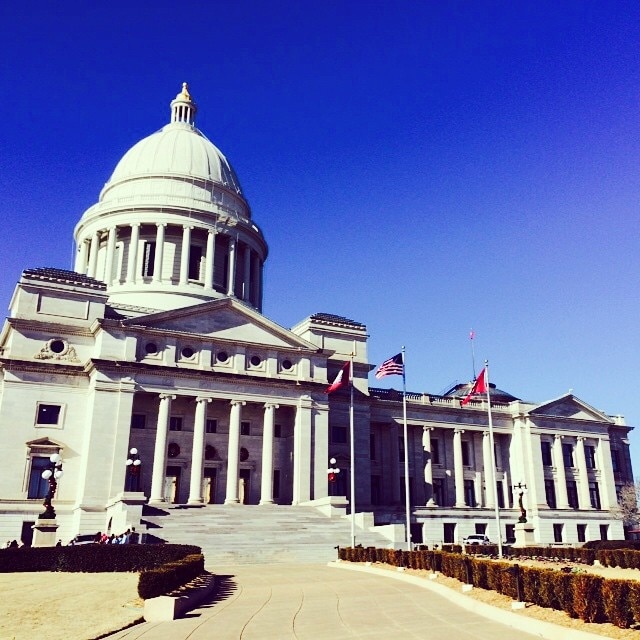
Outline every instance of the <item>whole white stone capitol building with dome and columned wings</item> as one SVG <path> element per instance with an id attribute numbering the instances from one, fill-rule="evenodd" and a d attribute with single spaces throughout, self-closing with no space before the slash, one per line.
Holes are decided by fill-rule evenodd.
<path id="1" fill-rule="evenodd" d="M 170 122 L 125 153 L 78 220 L 73 271 L 25 268 L 16 284 L 0 334 L 0 540 L 32 542 L 52 454 L 63 542 L 144 531 L 145 505 L 340 517 L 352 469 L 358 527 L 390 544 L 404 539 L 407 486 L 417 543 L 495 540 L 496 509 L 512 539 L 524 487 L 537 543 L 624 537 L 621 416 L 492 385 L 492 455 L 486 396 L 461 404 L 469 383 L 407 393 L 405 441 L 402 392 L 369 384 L 364 323 L 265 317 L 268 228 L 196 112 L 185 84 Z M 348 388 L 327 393 L 351 357 L 353 405 Z"/>

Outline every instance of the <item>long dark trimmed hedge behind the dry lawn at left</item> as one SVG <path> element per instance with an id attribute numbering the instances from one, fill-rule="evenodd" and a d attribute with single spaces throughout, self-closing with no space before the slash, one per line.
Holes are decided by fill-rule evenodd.
<path id="1" fill-rule="evenodd" d="M 143 571 L 198 554 L 184 544 L 87 544 L 72 547 L 22 547 L 0 550 L 0 573 L 65 571 L 102 573 Z"/>

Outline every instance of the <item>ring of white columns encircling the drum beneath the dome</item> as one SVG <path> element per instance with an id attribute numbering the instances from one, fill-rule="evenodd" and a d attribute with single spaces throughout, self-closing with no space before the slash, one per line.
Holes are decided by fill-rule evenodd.
<path id="1" fill-rule="evenodd" d="M 108 229 L 95 231 L 90 238 L 80 241 L 78 252 L 76 255 L 75 270 L 84 273 L 91 278 L 97 278 L 107 284 L 107 286 L 125 284 L 138 285 L 149 281 L 149 277 L 143 274 L 140 267 L 139 250 L 141 239 L 142 223 L 136 222 L 126 225 L 129 228 L 129 234 L 119 234 L 120 229 L 125 226 L 113 226 Z M 151 227 L 151 224 L 145 223 L 145 227 Z M 166 235 L 167 223 L 155 223 L 155 234 L 151 236 L 155 242 L 155 253 L 153 256 L 153 275 L 152 283 L 165 282 L 164 273 L 166 271 Z M 229 296 L 236 295 L 260 307 L 262 299 L 262 260 L 263 256 L 254 249 L 249 243 L 241 241 L 229 234 L 222 234 L 227 238 L 228 244 L 225 246 L 227 263 L 227 273 L 225 282 L 214 282 L 216 267 L 216 237 L 221 234 L 216 228 L 196 227 L 195 225 L 171 225 L 172 227 L 181 227 L 182 237 L 179 249 L 179 272 L 177 275 L 177 284 L 186 286 L 189 284 L 189 261 L 191 256 L 192 236 L 194 230 L 206 233 L 206 243 L 201 247 L 204 250 L 204 269 L 203 276 L 196 280 L 202 282 L 204 291 L 213 291 L 215 287 L 221 288 L 223 293 Z M 104 237 L 106 234 L 106 246 L 104 246 Z M 119 235 L 123 236 L 122 242 L 127 246 L 126 265 L 119 267 L 116 265 L 116 253 L 119 241 Z M 98 256 L 104 251 L 104 260 L 99 265 Z M 123 254 L 124 255 L 124 254 Z M 242 263 L 239 262 L 242 259 Z M 99 268 L 102 267 L 102 268 Z M 171 282 L 171 281 L 170 281 Z M 175 284 L 171 282 L 171 284 Z"/>

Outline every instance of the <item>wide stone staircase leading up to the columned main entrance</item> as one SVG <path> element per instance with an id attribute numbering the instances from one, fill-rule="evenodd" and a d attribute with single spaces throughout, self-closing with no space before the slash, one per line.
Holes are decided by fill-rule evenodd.
<path id="1" fill-rule="evenodd" d="M 285 505 L 145 506 L 142 527 L 151 541 L 195 544 L 208 568 L 231 564 L 317 563 L 335 560 L 351 545 L 349 517 L 329 518 L 313 507 Z M 356 528 L 356 544 L 389 546 Z"/>

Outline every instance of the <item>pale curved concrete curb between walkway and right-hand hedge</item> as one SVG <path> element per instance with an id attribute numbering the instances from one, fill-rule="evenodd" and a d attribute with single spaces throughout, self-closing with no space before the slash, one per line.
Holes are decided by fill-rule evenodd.
<path id="1" fill-rule="evenodd" d="M 478 602 L 472 598 L 469 598 L 462 593 L 458 593 L 449 587 L 437 584 L 431 580 L 425 580 L 418 576 L 407 575 L 404 572 L 391 572 L 385 569 L 376 569 L 375 567 L 367 567 L 362 565 L 356 565 L 343 561 L 332 561 L 327 563 L 328 567 L 332 569 L 346 569 L 348 571 L 360 571 L 362 573 L 373 574 L 384 578 L 391 578 L 393 580 L 400 580 L 408 584 L 415 585 L 422 589 L 427 589 L 433 593 L 446 598 L 450 602 L 471 611 L 477 613 L 485 618 L 490 618 L 496 622 L 501 622 L 504 625 L 517 629 L 518 631 L 524 631 L 529 634 L 537 635 L 545 640 L 602 640 L 604 636 L 589 633 L 588 631 L 578 631 L 577 629 L 570 629 L 569 627 L 561 627 L 551 622 L 544 622 L 544 620 L 536 620 L 535 618 L 524 618 L 516 613 L 510 611 L 503 611 L 497 607 L 492 607 L 484 602 Z"/>

